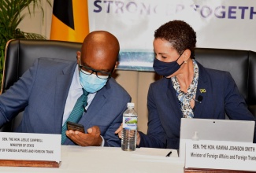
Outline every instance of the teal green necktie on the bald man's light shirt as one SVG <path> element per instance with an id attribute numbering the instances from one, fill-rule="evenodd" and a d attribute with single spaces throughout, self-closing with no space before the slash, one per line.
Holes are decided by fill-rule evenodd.
<path id="1" fill-rule="evenodd" d="M 67 121 L 71 121 L 73 123 L 77 123 L 81 116 L 83 116 L 83 111 L 85 106 L 87 105 L 87 93 L 86 90 L 83 90 L 83 94 L 80 96 L 80 98 L 77 99 L 76 105 L 72 109 L 72 112 L 69 115 L 68 120 L 65 121 L 64 125 L 62 126 L 61 131 L 61 144 L 63 144 L 67 138 L 65 132 L 67 131 Z"/>

